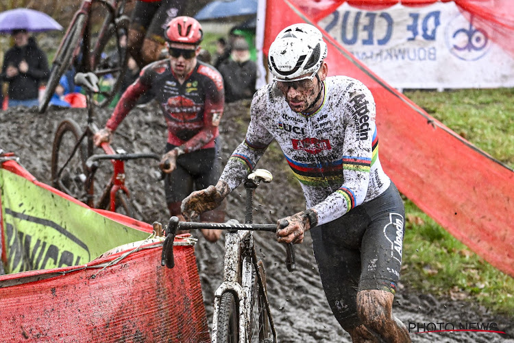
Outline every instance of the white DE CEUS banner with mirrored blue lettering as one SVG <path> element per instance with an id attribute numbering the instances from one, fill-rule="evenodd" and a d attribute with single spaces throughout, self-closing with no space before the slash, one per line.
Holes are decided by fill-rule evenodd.
<path id="1" fill-rule="evenodd" d="M 395 88 L 514 86 L 514 58 L 453 1 L 381 10 L 343 3 L 318 25 Z"/>

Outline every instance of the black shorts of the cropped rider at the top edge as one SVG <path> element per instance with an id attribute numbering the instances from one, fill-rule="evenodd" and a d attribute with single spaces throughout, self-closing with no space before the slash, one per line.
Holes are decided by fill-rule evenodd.
<path id="1" fill-rule="evenodd" d="M 130 27 L 145 33 L 147 39 L 164 44 L 166 25 L 175 16 L 182 15 L 185 6 L 184 0 L 136 1 Z"/>

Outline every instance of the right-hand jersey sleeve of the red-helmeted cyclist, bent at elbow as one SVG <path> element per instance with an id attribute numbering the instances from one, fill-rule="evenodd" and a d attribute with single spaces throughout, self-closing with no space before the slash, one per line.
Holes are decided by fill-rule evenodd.
<path id="1" fill-rule="evenodd" d="M 198 73 L 206 76 L 205 101 L 204 101 L 204 126 L 191 137 L 182 148 L 184 152 L 199 150 L 218 135 L 218 127 L 225 106 L 225 93 L 221 74 L 205 65 L 200 65 Z"/>

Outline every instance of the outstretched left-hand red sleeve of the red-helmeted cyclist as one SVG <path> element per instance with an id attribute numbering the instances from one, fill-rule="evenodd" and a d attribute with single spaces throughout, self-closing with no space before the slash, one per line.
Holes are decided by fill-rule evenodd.
<path id="1" fill-rule="evenodd" d="M 137 80 L 121 95 L 114 112 L 106 123 L 106 128 L 114 132 L 130 110 L 136 106 L 139 97 L 149 90 L 150 84 L 147 69 L 143 69 Z"/>

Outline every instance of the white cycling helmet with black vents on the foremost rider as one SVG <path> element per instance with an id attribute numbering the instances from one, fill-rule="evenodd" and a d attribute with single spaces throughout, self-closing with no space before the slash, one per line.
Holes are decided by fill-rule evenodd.
<path id="1" fill-rule="evenodd" d="M 327 45 L 315 26 L 293 24 L 278 34 L 269 47 L 268 56 L 273 80 L 312 79 L 327 56 Z"/>

